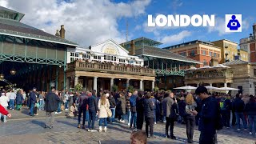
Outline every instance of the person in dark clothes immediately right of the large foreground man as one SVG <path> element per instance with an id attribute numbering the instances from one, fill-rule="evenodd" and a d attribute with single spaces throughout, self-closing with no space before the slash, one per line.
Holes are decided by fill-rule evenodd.
<path id="1" fill-rule="evenodd" d="M 228 95 L 223 95 L 221 101 L 219 102 L 219 106 L 221 109 L 223 126 L 230 128 L 231 101 L 228 98 Z"/>

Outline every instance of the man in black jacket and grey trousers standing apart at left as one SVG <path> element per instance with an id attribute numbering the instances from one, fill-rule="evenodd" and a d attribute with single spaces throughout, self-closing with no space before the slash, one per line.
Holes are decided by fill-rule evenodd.
<path id="1" fill-rule="evenodd" d="M 51 90 L 51 93 L 46 95 L 45 98 L 45 110 L 46 110 L 46 125 L 45 128 L 49 127 L 50 129 L 53 128 L 54 125 L 54 114 L 55 111 L 58 109 L 58 102 L 61 100 L 58 98 L 58 95 L 55 94 L 55 89 Z"/>

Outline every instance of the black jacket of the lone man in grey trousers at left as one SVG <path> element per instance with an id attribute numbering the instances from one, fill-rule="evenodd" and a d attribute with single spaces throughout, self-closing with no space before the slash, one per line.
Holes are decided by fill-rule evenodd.
<path id="1" fill-rule="evenodd" d="M 54 112 L 58 109 L 58 102 L 60 102 L 60 98 L 55 93 L 50 93 L 46 95 L 46 104 L 45 110 L 46 112 Z"/>

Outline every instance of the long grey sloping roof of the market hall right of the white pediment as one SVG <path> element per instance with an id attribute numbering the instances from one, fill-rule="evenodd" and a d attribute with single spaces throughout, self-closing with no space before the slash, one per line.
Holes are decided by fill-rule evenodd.
<path id="1" fill-rule="evenodd" d="M 186 58 L 186 57 L 183 57 L 182 55 L 174 54 L 169 50 L 163 50 L 161 48 L 154 47 L 154 46 L 142 46 L 140 49 L 135 50 L 135 55 L 145 55 L 145 56 L 150 56 L 155 58 L 166 58 L 166 59 L 171 59 L 175 61 L 201 64 L 201 62 L 195 61 L 194 59 Z"/>

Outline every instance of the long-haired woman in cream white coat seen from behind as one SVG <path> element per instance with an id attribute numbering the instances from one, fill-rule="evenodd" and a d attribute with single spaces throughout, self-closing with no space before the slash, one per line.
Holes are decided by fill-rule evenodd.
<path id="1" fill-rule="evenodd" d="M 99 118 L 99 132 L 102 132 L 102 122 L 104 122 L 104 131 L 106 132 L 107 126 L 107 112 L 106 109 L 110 108 L 110 102 L 105 94 L 102 94 L 101 99 L 98 101 L 98 118 Z"/>

